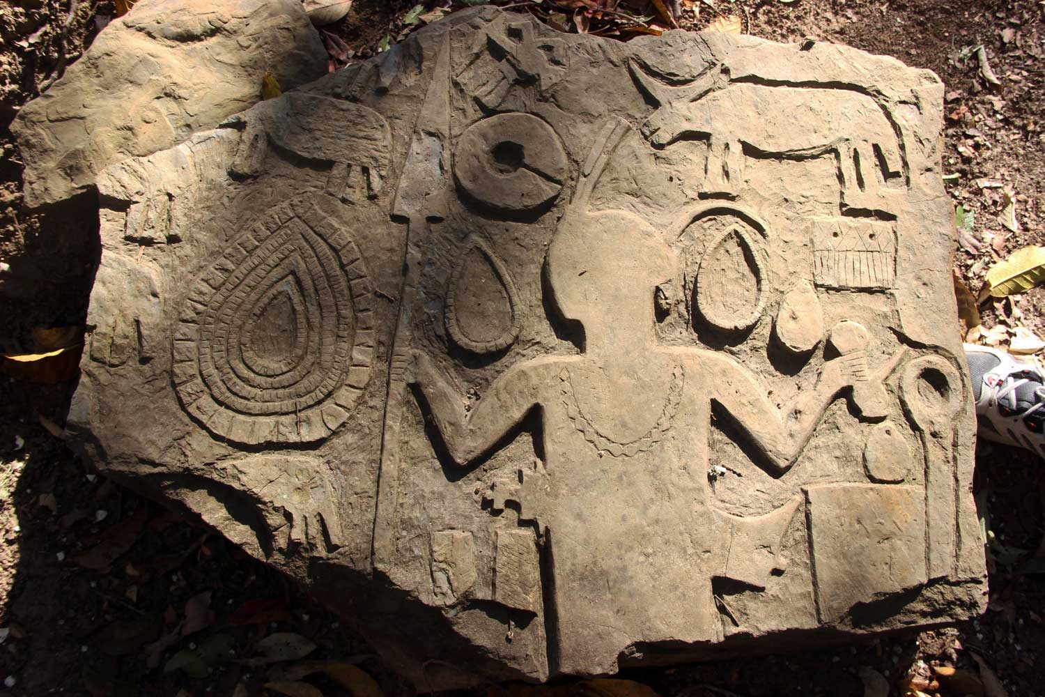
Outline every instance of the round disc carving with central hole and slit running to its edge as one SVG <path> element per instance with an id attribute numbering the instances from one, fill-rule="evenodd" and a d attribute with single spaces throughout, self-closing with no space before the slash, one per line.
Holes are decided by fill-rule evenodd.
<path id="1" fill-rule="evenodd" d="M 567 173 L 566 150 L 552 126 L 531 114 L 497 114 L 472 123 L 454 154 L 454 176 L 475 201 L 518 212 L 552 201 Z"/>

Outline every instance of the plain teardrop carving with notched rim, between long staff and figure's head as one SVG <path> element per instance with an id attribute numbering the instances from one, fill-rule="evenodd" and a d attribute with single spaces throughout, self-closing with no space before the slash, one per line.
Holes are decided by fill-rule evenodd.
<path id="1" fill-rule="evenodd" d="M 446 294 L 446 330 L 472 353 L 511 346 L 519 333 L 518 294 L 508 270 L 489 247 L 470 237 Z"/>

